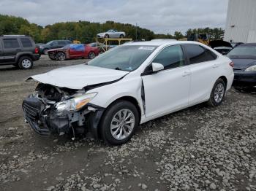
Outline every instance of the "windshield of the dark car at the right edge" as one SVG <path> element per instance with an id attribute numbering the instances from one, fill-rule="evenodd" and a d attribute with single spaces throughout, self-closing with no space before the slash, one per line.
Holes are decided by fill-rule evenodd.
<path id="1" fill-rule="evenodd" d="M 256 57 L 256 46 L 238 46 L 235 47 L 233 50 L 230 50 L 230 52 L 227 53 L 228 57 L 233 56 L 250 56 L 250 57 Z"/>

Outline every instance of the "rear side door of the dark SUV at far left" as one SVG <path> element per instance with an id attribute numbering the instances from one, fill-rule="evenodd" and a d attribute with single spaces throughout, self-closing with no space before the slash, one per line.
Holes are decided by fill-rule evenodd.
<path id="1" fill-rule="evenodd" d="M 15 56 L 18 52 L 21 52 L 22 47 L 17 38 L 3 39 L 4 46 L 4 62 L 15 62 Z"/>

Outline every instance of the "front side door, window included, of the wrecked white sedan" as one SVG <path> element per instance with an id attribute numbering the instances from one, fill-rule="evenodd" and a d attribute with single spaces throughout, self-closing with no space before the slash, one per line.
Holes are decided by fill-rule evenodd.
<path id="1" fill-rule="evenodd" d="M 161 63 L 164 69 L 142 75 L 146 117 L 159 117 L 188 106 L 190 70 L 181 46 L 165 47 L 152 63 Z"/>

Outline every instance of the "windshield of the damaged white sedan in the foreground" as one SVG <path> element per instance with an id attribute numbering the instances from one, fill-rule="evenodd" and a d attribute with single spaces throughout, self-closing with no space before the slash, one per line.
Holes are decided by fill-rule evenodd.
<path id="1" fill-rule="evenodd" d="M 123 45 L 108 50 L 89 61 L 90 66 L 122 71 L 134 71 L 156 49 L 156 46 Z"/>

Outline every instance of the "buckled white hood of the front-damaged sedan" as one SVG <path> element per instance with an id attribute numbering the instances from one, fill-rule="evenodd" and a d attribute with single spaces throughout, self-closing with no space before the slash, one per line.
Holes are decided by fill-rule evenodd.
<path id="1" fill-rule="evenodd" d="M 45 74 L 34 75 L 28 79 L 35 79 L 38 82 L 57 87 L 67 87 L 70 89 L 80 90 L 88 85 L 112 82 L 124 77 L 124 75 L 128 73 L 128 71 L 105 69 L 80 64 L 54 69 Z"/>

